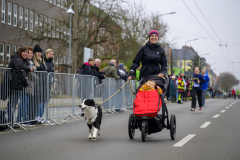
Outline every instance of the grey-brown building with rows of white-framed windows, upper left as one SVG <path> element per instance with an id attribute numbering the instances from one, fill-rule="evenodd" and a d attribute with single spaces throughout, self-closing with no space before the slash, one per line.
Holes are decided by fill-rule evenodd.
<path id="1" fill-rule="evenodd" d="M 67 0 L 1 0 L 0 66 L 7 67 L 20 47 L 40 45 L 54 50 L 54 63 L 67 63 Z"/>

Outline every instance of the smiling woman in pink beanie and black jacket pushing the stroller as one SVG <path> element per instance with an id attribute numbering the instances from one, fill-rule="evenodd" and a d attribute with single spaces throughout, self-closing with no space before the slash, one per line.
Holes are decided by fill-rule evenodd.
<path id="1" fill-rule="evenodd" d="M 129 79 L 136 74 L 136 69 L 142 62 L 140 70 L 140 79 L 150 75 L 164 76 L 167 72 L 167 58 L 165 51 L 158 44 L 159 34 L 153 30 L 149 33 L 149 41 L 144 45 L 133 60 L 130 68 Z M 161 68 L 159 66 L 161 65 Z"/>

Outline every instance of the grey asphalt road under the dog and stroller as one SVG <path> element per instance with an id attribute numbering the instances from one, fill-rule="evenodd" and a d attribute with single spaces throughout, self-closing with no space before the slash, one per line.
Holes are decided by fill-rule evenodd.
<path id="1" fill-rule="evenodd" d="M 190 102 L 167 106 L 170 114 L 177 118 L 176 140 L 171 140 L 170 131 L 166 129 L 149 136 L 147 142 L 141 141 L 140 131 L 136 130 L 135 138 L 130 140 L 127 131 L 129 113 L 121 113 L 103 117 L 101 137 L 96 141 L 88 140 L 84 121 L 1 134 L 0 159 L 240 159 L 240 101 L 210 99 L 201 113 L 198 109 L 191 112 Z"/>

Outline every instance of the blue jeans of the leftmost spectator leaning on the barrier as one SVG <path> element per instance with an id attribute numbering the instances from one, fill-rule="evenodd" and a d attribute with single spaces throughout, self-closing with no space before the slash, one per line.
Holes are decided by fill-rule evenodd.
<path id="1" fill-rule="evenodd" d="M 19 91 L 11 91 L 11 95 L 9 97 L 9 101 L 7 103 L 7 113 L 8 113 L 8 121 L 13 124 L 14 120 L 14 112 L 16 109 L 16 105 L 18 103 L 19 95 L 21 92 Z"/>

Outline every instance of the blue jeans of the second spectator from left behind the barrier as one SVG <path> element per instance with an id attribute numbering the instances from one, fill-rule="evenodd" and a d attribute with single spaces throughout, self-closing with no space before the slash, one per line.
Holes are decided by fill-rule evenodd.
<path id="1" fill-rule="evenodd" d="M 20 103 L 18 104 L 17 122 L 28 121 L 29 95 L 21 94 Z M 23 119 L 22 119 L 23 118 Z"/>

